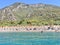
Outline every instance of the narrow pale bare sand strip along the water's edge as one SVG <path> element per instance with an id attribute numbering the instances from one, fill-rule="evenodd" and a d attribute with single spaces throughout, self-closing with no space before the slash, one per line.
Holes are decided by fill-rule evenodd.
<path id="1" fill-rule="evenodd" d="M 13 31 L 13 30 L 0 30 L 0 32 L 60 32 L 59 30 L 57 30 L 57 31 L 55 31 L 55 30 L 36 30 L 36 31 L 34 31 L 34 30 L 31 30 L 31 31 L 27 31 L 27 30 L 18 30 L 18 31 Z"/>

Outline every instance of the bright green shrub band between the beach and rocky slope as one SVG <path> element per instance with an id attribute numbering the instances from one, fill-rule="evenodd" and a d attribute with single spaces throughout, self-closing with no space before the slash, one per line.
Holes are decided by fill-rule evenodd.
<path id="1" fill-rule="evenodd" d="M 0 26 L 42 26 L 42 25 L 60 25 L 60 21 L 57 20 L 21 20 L 21 21 L 1 21 Z"/>

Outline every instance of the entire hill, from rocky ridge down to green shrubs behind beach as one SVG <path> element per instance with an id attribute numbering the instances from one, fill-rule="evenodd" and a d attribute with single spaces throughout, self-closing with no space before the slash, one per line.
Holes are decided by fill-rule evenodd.
<path id="1" fill-rule="evenodd" d="M 60 25 L 60 7 L 17 2 L 0 9 L 0 26 L 15 25 Z"/>

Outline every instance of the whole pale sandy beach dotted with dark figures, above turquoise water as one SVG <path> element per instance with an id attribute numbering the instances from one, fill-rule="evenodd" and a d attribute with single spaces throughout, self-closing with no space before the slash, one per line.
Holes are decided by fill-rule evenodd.
<path id="1" fill-rule="evenodd" d="M 60 32 L 60 26 L 5 26 L 0 32 Z"/>

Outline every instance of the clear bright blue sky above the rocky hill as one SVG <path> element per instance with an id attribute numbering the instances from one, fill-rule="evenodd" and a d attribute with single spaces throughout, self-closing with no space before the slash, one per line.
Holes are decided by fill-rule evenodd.
<path id="1" fill-rule="evenodd" d="M 43 3 L 60 6 L 60 0 L 0 0 L 0 9 L 9 6 L 15 2 L 21 2 L 26 4 Z"/>

